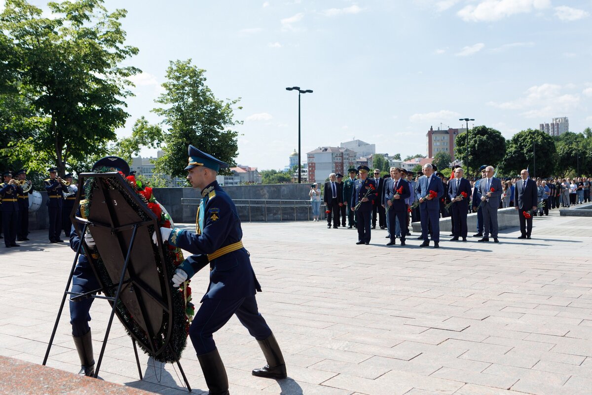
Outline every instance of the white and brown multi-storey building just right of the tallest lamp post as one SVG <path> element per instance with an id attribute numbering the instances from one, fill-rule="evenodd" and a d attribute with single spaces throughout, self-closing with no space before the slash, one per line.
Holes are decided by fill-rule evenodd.
<path id="1" fill-rule="evenodd" d="M 318 147 L 307 152 L 308 181 L 324 182 L 331 173 L 345 175 L 350 166 L 356 165 L 356 158 L 355 151 L 344 147 Z"/>

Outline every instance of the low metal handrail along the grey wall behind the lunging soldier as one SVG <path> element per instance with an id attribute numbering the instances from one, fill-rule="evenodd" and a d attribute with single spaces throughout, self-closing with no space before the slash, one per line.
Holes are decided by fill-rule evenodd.
<path id="1" fill-rule="evenodd" d="M 244 207 L 244 210 L 247 210 L 249 222 L 252 222 L 252 211 L 254 208 L 262 207 L 263 208 L 263 221 L 268 222 L 268 209 L 273 209 L 279 207 L 279 221 L 298 221 L 298 220 L 308 220 L 311 219 L 311 211 L 312 207 L 310 204 L 310 200 L 289 200 L 289 199 L 233 199 L 234 204 L 237 208 Z M 199 198 L 181 198 L 181 204 L 183 205 L 200 205 L 201 199 Z M 298 208 L 307 208 L 307 213 L 305 218 L 298 219 Z M 293 212 L 294 219 L 284 219 L 284 213 L 287 213 L 288 210 Z M 239 209 L 239 216 L 241 214 Z M 270 210 L 272 211 L 272 210 Z M 275 210 L 273 210 L 275 211 Z M 321 210 L 323 211 L 323 210 Z M 303 214 L 303 213 L 302 213 Z M 324 213 L 321 213 L 321 215 Z M 270 213 L 270 215 L 276 216 L 276 212 Z M 243 220 L 241 218 L 241 220 Z"/>

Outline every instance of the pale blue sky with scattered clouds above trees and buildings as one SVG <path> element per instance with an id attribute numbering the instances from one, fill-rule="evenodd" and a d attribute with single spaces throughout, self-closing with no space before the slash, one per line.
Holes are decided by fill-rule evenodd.
<path id="1" fill-rule="evenodd" d="M 33 4 L 44 4 L 34 1 Z M 302 151 L 361 139 L 426 154 L 430 126 L 475 118 L 511 137 L 553 117 L 592 126 L 592 1 L 115 1 L 140 49 L 130 134 L 162 92 L 169 60 L 207 70 L 221 99 L 242 98 L 237 163 L 279 169 Z M 471 123 L 469 123 L 471 126 Z M 146 150 L 145 156 L 155 152 Z"/>

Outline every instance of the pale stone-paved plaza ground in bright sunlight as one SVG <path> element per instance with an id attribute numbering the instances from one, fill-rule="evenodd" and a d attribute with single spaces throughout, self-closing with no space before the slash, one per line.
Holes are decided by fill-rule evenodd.
<path id="1" fill-rule="evenodd" d="M 265 362 L 236 318 L 214 335 L 233 394 L 592 393 L 592 220 L 535 218 L 499 244 L 419 240 L 387 248 L 384 230 L 357 246 L 355 230 L 323 222 L 246 223 L 243 242 L 263 287 L 260 311 L 275 332 L 289 380 L 253 377 Z M 416 235 L 416 234 L 414 234 Z M 73 252 L 34 232 L 0 252 L 0 355 L 43 361 Z M 448 237 L 442 235 L 443 240 Z M 195 296 L 207 271 L 192 282 Z M 108 304 L 91 310 L 95 354 Z M 66 314 L 48 361 L 76 372 Z M 161 394 L 186 393 L 173 365 L 140 356 L 112 328 L 101 377 Z M 207 390 L 191 348 L 181 359 L 194 393 Z M 1 380 L 1 378 L 0 378 Z"/>

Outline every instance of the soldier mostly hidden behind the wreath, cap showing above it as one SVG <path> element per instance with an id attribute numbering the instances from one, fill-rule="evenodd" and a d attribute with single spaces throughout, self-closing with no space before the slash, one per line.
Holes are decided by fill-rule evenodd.
<path id="1" fill-rule="evenodd" d="M 130 167 L 126 161 L 118 158 L 117 156 L 107 156 L 106 158 L 99 159 L 93 166 L 92 169 L 96 170 L 100 167 L 109 167 L 115 171 L 121 171 L 127 175 L 130 172 Z M 76 215 L 79 217 L 84 216 L 84 205 L 87 202 L 85 200 L 80 201 L 78 211 Z M 78 246 L 81 241 L 85 242 L 86 245 L 93 249 L 95 246 L 95 240 L 91 233 L 87 232 L 83 235 L 83 240 L 78 236 L 78 232 L 81 232 L 81 227 L 78 223 L 72 224 L 70 229 L 70 248 L 73 251 L 78 251 Z M 96 258 L 96 257 L 95 257 Z M 84 250 L 81 249 L 81 254 L 76 262 L 74 273 L 72 275 L 72 293 L 84 294 L 101 288 L 98 280 L 96 280 L 95 274 L 92 271 L 91 264 L 84 255 Z M 72 338 L 76 351 L 78 351 L 78 357 L 80 358 L 81 370 L 79 374 L 92 376 L 95 374 L 95 359 L 92 352 L 92 335 L 91 327 L 88 322 L 91 320 L 89 311 L 91 310 L 92 301 L 94 298 L 78 299 L 76 301 L 70 300 L 70 324 L 72 325 Z"/>

